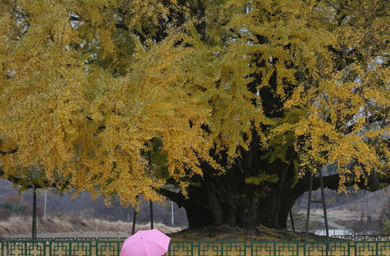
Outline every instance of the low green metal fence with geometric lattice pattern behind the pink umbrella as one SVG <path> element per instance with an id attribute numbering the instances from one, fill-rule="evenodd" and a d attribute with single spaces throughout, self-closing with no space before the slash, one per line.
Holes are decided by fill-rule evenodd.
<path id="1" fill-rule="evenodd" d="M 123 241 L 1 241 L 1 256 L 119 256 Z M 171 241 L 165 256 L 388 256 L 390 241 Z"/>

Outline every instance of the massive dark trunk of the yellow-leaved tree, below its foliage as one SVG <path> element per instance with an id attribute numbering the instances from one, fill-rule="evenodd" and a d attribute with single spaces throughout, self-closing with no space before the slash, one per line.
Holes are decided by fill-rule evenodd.
<path id="1" fill-rule="evenodd" d="M 189 186 L 187 199 L 180 192 L 165 191 L 163 194 L 187 211 L 189 229 L 221 224 L 246 229 L 255 229 L 260 224 L 286 229 L 291 207 L 309 187 L 309 177 L 296 181 L 291 168 L 291 165 L 281 168 L 279 181 L 275 184 L 246 184 L 244 170 L 230 169 L 224 175 L 198 177 L 197 186 Z M 324 177 L 324 184 L 337 189 L 339 174 Z M 319 187 L 320 181 L 315 177 L 313 190 Z"/>

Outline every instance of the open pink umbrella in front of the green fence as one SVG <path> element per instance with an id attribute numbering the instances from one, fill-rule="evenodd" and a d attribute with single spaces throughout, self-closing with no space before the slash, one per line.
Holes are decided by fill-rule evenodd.
<path id="1" fill-rule="evenodd" d="M 157 229 L 138 231 L 123 242 L 119 256 L 161 256 L 169 242 L 170 237 Z"/>

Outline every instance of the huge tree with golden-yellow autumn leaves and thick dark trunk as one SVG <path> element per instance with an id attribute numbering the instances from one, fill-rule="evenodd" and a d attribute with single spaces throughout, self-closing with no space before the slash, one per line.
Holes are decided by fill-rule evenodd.
<path id="1" fill-rule="evenodd" d="M 375 191 L 389 174 L 389 11 L 2 0 L 1 173 L 136 207 L 166 196 L 232 226 L 284 227 L 325 165 L 338 166 L 325 186 Z"/>

